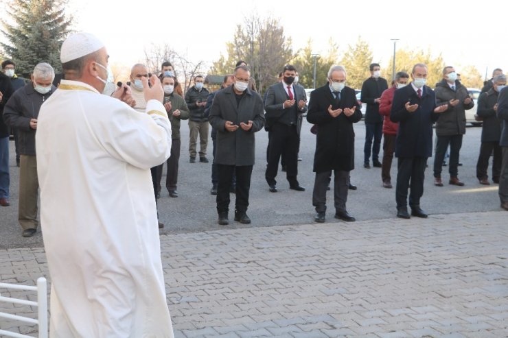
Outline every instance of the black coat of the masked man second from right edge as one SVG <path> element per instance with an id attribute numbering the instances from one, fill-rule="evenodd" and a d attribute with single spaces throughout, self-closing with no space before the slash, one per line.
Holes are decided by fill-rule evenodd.
<path id="1" fill-rule="evenodd" d="M 476 114 L 483 117 L 481 127 L 482 142 L 499 142 L 501 136 L 501 121 L 496 117 L 494 106 L 498 102 L 498 92 L 494 88 L 490 88 L 487 93 L 481 93 L 478 97 L 478 109 Z"/>

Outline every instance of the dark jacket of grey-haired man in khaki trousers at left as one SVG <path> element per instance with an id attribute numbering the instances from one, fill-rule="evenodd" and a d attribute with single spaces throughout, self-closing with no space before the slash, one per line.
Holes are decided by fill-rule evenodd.
<path id="1" fill-rule="evenodd" d="M 32 82 L 27 83 L 9 99 L 3 110 L 5 121 L 19 131 L 19 154 L 35 155 L 35 132 L 30 128 L 30 120 L 37 119 L 43 102 L 56 90 L 51 86 L 49 93 L 42 95 L 36 92 Z"/>

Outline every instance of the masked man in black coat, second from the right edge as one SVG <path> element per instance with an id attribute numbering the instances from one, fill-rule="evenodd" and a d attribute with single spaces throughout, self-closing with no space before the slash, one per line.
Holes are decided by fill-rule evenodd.
<path id="1" fill-rule="evenodd" d="M 483 119 L 481 126 L 481 146 L 478 162 L 476 163 L 476 178 L 480 184 L 489 185 L 489 176 L 487 168 L 489 167 L 489 158 L 494 152 L 492 160 L 492 180 L 499 183 L 501 172 L 501 147 L 499 138 L 501 136 L 501 122 L 496 117 L 498 110 L 499 92 L 506 86 L 506 76 L 503 74 L 494 77 L 494 87 L 481 93 L 478 97 L 478 110 L 476 114 Z"/>

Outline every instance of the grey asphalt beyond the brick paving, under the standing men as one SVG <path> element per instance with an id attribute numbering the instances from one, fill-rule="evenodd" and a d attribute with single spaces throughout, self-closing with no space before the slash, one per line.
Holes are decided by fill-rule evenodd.
<path id="1" fill-rule="evenodd" d="M 310 124 L 304 121 L 302 128 L 299 162 L 299 182 L 307 189 L 304 192 L 289 190 L 285 173 L 279 171 L 277 176 L 278 193 L 270 193 L 264 179 L 266 165 L 267 133 L 258 132 L 256 136 L 256 164 L 251 181 L 251 197 L 248 210 L 252 224 L 249 227 L 279 226 L 289 224 L 313 223 L 314 208 L 312 206 L 312 185 L 314 173 L 312 160 L 314 156 L 315 136 L 310 133 Z M 358 220 L 389 219 L 395 217 L 395 189 L 382 187 L 380 168 L 365 169 L 363 162 L 363 145 L 365 141 L 365 125 L 363 121 L 356 123 L 356 169 L 351 171 L 351 182 L 358 186 L 358 190 L 349 191 L 347 209 Z M 432 162 L 429 158 L 429 168 L 426 170 L 425 192 L 422 198 L 422 208 L 430 214 L 470 213 L 487 210 L 500 210 L 497 185 L 482 186 L 476 180 L 476 160 L 480 147 L 481 128 L 467 128 L 461 149 L 459 178 L 465 186 L 450 186 L 448 184 L 448 167 L 443 168 L 443 182 L 445 186 L 439 188 L 433 185 Z M 189 163 L 188 142 L 189 128 L 183 121 L 181 125 L 181 158 L 178 178 L 179 197 L 172 198 L 163 188 L 159 200 L 159 217 L 165 224 L 161 234 L 181 232 L 201 232 L 219 228 L 244 228 L 232 221 L 234 198 L 231 194 L 230 225 L 218 226 L 215 196 L 210 195 L 211 162 Z M 17 223 L 18 182 L 19 169 L 14 160 L 14 142 L 10 144 L 10 173 L 11 173 L 11 206 L 0 207 L 0 249 L 5 248 L 37 248 L 43 246 L 41 232 L 34 237 L 21 237 L 21 228 Z M 211 160 L 211 142 L 208 148 Z M 382 150 L 380 152 L 382 156 Z M 396 160 L 392 165 L 392 182 L 395 184 Z M 165 169 L 164 169 L 165 170 Z M 489 167 L 490 170 L 490 167 Z M 163 174 L 163 186 L 165 183 Z M 491 173 L 489 172 L 489 176 Z M 336 221 L 333 218 L 333 193 L 327 194 L 328 212 L 327 222 Z M 355 226 L 352 223 L 350 226 Z"/>

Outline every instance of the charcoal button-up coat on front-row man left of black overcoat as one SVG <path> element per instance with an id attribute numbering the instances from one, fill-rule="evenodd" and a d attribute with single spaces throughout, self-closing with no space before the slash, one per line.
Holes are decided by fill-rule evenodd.
<path id="1" fill-rule="evenodd" d="M 213 98 L 208 119 L 217 130 L 214 163 L 238 167 L 254 165 L 254 133 L 259 132 L 264 125 L 263 101 L 259 94 L 247 88 L 238 104 L 233 86 L 219 90 Z M 238 125 L 238 130 L 228 132 L 225 128 L 226 121 Z M 253 121 L 251 130 L 243 130 L 240 122 L 249 121 Z"/>

